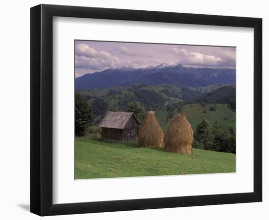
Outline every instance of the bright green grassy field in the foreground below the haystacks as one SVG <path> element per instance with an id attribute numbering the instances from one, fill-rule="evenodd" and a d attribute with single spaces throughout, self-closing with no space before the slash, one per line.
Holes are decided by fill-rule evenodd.
<path id="1" fill-rule="evenodd" d="M 106 143 L 77 137 L 75 178 L 165 176 L 235 172 L 235 154 L 193 149 L 174 154 L 158 148 L 140 148 L 136 142 Z"/>

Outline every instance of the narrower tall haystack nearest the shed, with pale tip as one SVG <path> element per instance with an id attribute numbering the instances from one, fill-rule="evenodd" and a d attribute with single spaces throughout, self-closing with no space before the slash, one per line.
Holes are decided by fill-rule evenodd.
<path id="1" fill-rule="evenodd" d="M 163 147 L 163 136 L 154 111 L 148 112 L 138 130 L 138 145 L 146 148 Z"/>

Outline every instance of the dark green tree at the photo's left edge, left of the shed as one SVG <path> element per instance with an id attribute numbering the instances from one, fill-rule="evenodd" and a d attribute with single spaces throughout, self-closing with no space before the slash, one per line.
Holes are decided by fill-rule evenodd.
<path id="1" fill-rule="evenodd" d="M 75 93 L 75 134 L 81 136 L 91 125 L 91 108 L 86 98 L 80 93 Z"/>

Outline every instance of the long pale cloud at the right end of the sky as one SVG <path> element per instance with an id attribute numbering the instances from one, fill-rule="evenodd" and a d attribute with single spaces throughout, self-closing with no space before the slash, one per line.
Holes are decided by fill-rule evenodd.
<path id="1" fill-rule="evenodd" d="M 204 51 L 203 51 L 204 50 Z M 235 67 L 235 50 L 229 48 L 194 47 L 193 50 L 187 48 L 172 48 L 179 63 L 188 66 L 208 66 L 208 67 Z"/>

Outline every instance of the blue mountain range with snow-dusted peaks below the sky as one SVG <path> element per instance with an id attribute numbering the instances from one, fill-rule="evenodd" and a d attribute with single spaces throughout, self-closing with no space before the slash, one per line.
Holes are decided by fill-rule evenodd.
<path id="1" fill-rule="evenodd" d="M 76 90 L 110 88 L 134 84 L 174 84 L 181 87 L 204 87 L 212 84 L 235 85 L 235 69 L 194 68 L 180 64 L 134 68 L 124 66 L 85 74 L 75 79 Z"/>

